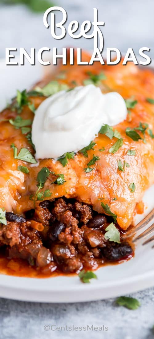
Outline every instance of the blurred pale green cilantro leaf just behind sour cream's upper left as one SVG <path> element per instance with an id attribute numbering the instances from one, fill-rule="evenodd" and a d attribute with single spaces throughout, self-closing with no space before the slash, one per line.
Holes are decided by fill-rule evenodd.
<path id="1" fill-rule="evenodd" d="M 49 97 L 57 92 L 69 89 L 68 85 L 60 84 L 58 81 L 53 80 L 50 81 L 46 86 L 43 88 L 35 87 L 35 91 L 42 93 L 45 97 Z"/>

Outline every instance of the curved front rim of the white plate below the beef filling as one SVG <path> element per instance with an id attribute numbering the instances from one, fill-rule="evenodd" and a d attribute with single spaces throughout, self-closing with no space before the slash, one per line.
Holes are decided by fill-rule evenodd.
<path id="1" fill-rule="evenodd" d="M 0 59 L 0 65 L 4 62 L 4 60 L 4 58 Z M 147 65 L 147 68 L 153 67 L 154 60 L 151 61 L 150 65 Z M 132 260 L 133 258 L 128 262 L 131 262 Z M 128 262 L 120 263 L 120 265 L 127 265 Z M 109 265 L 105 267 L 108 266 Z M 104 267 L 100 267 L 96 271 L 100 272 L 103 269 Z M 1 298 L 30 302 L 70 303 L 114 298 L 122 294 L 133 293 L 152 287 L 154 286 L 154 268 L 142 274 L 136 274 L 129 278 L 122 278 L 121 280 L 115 279 L 106 283 L 93 280 L 90 284 L 83 284 L 80 282 L 80 279 L 77 275 L 71 277 L 56 276 L 49 278 L 29 278 L 0 274 L 0 278 Z M 55 288 L 55 286 L 52 286 L 52 284 L 50 285 L 50 280 L 52 279 L 52 281 L 54 281 L 56 278 L 63 281 L 65 280 L 66 282 L 67 279 L 73 279 L 75 285 L 72 284 L 71 286 L 67 286 L 67 283 L 66 285 L 62 283 L 61 287 Z M 48 288 L 46 288 L 46 290 L 44 290 L 45 287 L 40 288 L 40 284 L 35 284 L 37 281 L 41 282 L 45 280 L 48 281 Z M 34 283 L 31 284 L 31 281 Z"/>

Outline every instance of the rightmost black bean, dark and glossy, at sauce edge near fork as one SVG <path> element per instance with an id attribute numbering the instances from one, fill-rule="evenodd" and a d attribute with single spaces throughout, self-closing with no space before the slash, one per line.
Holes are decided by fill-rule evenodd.
<path id="1" fill-rule="evenodd" d="M 101 251 L 103 256 L 111 261 L 125 259 L 133 253 L 131 246 L 127 242 L 122 242 L 120 244 L 113 242 L 106 247 L 103 247 Z"/>

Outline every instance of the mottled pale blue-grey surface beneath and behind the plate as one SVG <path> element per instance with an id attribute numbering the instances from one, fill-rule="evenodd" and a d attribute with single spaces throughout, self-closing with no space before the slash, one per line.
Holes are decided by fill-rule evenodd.
<path id="1" fill-rule="evenodd" d="M 98 19 L 105 21 L 103 34 L 105 47 L 126 51 L 133 47 L 136 54 L 142 46 L 150 47 L 154 57 L 154 1 L 153 0 L 55 0 L 63 6 L 71 20 L 91 20 L 93 7 L 98 9 Z M 79 46 L 93 47 L 90 39 L 71 39 L 68 35 L 54 40 L 43 25 L 43 15 L 36 15 L 25 6 L 0 6 L 0 57 L 5 57 L 5 47 Z M 67 27 L 67 25 L 66 25 Z M 12 79 L 13 81 L 13 79 Z M 1 338 L 153 338 L 154 289 L 132 295 L 141 302 L 136 311 L 117 307 L 114 300 L 76 304 L 28 303 L 0 299 Z M 45 325 L 57 326 L 108 326 L 108 332 L 52 332 Z"/>

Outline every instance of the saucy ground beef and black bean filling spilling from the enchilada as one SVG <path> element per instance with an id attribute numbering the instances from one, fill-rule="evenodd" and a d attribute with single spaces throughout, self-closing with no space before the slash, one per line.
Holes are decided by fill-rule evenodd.
<path id="1" fill-rule="evenodd" d="M 133 253 L 130 245 L 105 239 L 105 228 L 111 222 L 107 216 L 75 199 L 43 201 L 25 213 L 26 222 L 22 216 L 8 217 L 15 221 L 0 224 L 0 245 L 5 246 L 7 257 L 25 259 L 44 274 L 57 269 L 65 273 L 93 270 L 107 260 Z"/>

